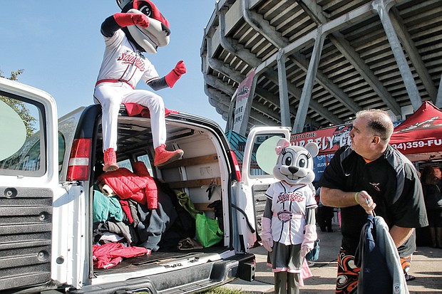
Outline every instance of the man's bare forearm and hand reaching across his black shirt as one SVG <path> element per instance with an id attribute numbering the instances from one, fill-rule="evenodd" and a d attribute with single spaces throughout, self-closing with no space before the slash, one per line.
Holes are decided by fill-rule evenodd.
<path id="1" fill-rule="evenodd" d="M 339 189 L 321 187 L 321 202 L 325 206 L 350 207 L 360 205 L 367 214 L 371 214 L 376 204 L 366 191 L 344 192 Z"/>

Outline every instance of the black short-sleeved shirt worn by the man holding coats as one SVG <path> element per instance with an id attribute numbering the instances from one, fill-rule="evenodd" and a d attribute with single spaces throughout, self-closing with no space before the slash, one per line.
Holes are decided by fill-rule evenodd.
<path id="1" fill-rule="evenodd" d="M 325 169 L 319 186 L 342 191 L 367 191 L 376 203 L 377 216 L 389 228 L 426 226 L 426 211 L 421 184 L 413 164 L 389 145 L 383 156 L 366 163 L 350 147 L 341 147 Z M 341 208 L 342 248 L 353 255 L 359 244 L 367 214 L 361 206 Z M 408 256 L 415 248 L 414 238 L 399 247 L 400 256 Z"/>

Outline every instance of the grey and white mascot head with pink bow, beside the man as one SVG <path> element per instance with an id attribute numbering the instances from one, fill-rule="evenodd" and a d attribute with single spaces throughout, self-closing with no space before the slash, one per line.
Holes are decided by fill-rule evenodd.
<path id="1" fill-rule="evenodd" d="M 309 184 L 314 181 L 313 157 L 319 152 L 316 143 L 307 143 L 305 147 L 290 146 L 287 139 L 281 139 L 275 149 L 278 155 L 273 168 L 275 178 L 287 184 Z"/>

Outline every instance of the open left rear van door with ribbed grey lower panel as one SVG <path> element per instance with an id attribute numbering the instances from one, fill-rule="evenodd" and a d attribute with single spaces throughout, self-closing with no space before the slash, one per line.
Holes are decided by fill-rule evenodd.
<path id="1" fill-rule="evenodd" d="M 51 280 L 58 187 L 56 103 L 0 78 L 0 292 Z"/>

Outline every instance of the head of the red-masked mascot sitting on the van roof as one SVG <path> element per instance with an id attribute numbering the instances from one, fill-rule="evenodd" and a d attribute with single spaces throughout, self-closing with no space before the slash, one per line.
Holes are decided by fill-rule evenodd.
<path id="1" fill-rule="evenodd" d="M 125 35 L 135 43 L 138 50 L 157 53 L 158 47 L 169 43 L 170 26 L 160 10 L 148 0 L 116 0 L 123 13 L 145 14 L 149 18 L 149 26 L 127 26 L 123 28 Z"/>

